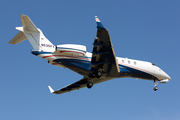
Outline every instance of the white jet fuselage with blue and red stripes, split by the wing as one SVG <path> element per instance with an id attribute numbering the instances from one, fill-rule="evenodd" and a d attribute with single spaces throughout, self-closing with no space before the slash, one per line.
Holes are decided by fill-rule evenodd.
<path id="1" fill-rule="evenodd" d="M 36 55 L 48 60 L 48 62 L 52 65 L 66 68 L 66 66 L 54 63 L 53 61 L 56 59 L 66 59 L 66 60 L 69 59 L 69 61 L 72 60 L 86 61 L 87 64 L 90 64 L 92 53 L 86 52 L 84 56 L 77 56 L 77 55 L 74 56 L 66 53 L 52 54 L 47 52 L 39 52 L 39 54 Z M 122 58 L 122 57 L 116 57 L 116 59 L 118 61 L 120 72 L 122 73 L 119 77 L 133 77 L 133 78 L 147 79 L 147 80 L 156 79 L 162 82 L 163 81 L 167 82 L 171 79 L 169 75 L 167 75 L 162 69 L 160 69 L 158 66 L 156 66 L 153 63 Z"/>

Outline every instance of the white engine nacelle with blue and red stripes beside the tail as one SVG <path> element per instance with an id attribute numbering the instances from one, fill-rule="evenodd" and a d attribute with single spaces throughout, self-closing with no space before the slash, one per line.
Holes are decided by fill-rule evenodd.
<path id="1" fill-rule="evenodd" d="M 63 44 L 56 46 L 56 52 L 70 56 L 84 56 L 86 54 L 86 46 L 75 44 Z"/>

